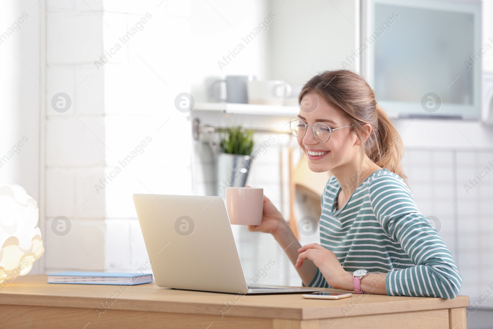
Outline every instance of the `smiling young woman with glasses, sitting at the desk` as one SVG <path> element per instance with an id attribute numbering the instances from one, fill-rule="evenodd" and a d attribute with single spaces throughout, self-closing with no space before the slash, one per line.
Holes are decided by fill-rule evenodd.
<path id="1" fill-rule="evenodd" d="M 358 74 L 311 78 L 290 122 L 314 172 L 330 170 L 321 197 L 320 244 L 301 247 L 264 196 L 260 225 L 285 249 L 304 286 L 357 293 L 454 298 L 462 277 L 420 213 L 401 167 L 402 141 Z"/>

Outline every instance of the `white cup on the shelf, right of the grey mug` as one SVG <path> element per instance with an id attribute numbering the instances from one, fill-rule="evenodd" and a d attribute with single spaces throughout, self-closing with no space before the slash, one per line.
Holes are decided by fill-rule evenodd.
<path id="1" fill-rule="evenodd" d="M 281 80 L 248 81 L 248 104 L 282 105 L 291 94 L 289 83 Z"/>

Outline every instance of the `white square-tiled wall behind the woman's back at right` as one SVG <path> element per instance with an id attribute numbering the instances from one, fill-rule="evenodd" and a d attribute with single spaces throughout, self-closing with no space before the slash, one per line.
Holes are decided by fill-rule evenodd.
<path id="1" fill-rule="evenodd" d="M 488 163 L 492 159 L 491 151 L 409 148 L 404 159 L 416 204 L 423 215 L 440 220 L 440 236 L 463 278 L 459 293 L 469 295 L 470 301 L 492 283 L 488 271 L 493 259 L 493 174 L 469 193 L 464 184 L 470 184 L 485 166 L 493 170 Z M 482 307 L 493 307 L 493 302 L 487 300 Z"/>

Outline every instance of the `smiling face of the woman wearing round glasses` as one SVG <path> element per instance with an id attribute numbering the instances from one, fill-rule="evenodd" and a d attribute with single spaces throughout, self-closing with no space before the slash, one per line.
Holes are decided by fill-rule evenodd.
<path id="1" fill-rule="evenodd" d="M 313 126 L 316 122 L 323 122 L 330 128 L 339 128 L 351 124 L 339 110 L 329 105 L 321 96 L 308 93 L 303 99 L 317 101 L 315 110 L 309 109 L 301 104 L 298 118 L 306 124 Z M 308 104 L 308 103 L 307 103 Z M 313 105 L 312 105 L 313 106 Z M 330 139 L 325 143 L 320 143 L 314 136 L 313 128 L 307 127 L 307 132 L 303 138 L 298 138 L 298 144 L 308 158 L 310 170 L 321 173 L 332 170 L 341 165 L 352 162 L 357 154 L 357 136 L 352 132 L 352 127 L 345 127 L 332 132 Z M 315 155 L 322 152 L 321 155 Z M 311 155 L 312 153 L 313 155 Z"/>

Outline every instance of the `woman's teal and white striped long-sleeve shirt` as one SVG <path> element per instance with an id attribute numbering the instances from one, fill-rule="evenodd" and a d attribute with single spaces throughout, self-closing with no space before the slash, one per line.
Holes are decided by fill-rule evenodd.
<path id="1" fill-rule="evenodd" d="M 389 296 L 457 296 L 462 277 L 452 254 L 400 176 L 372 173 L 336 210 L 340 189 L 332 176 L 321 197 L 320 244 L 346 271 L 387 273 Z M 309 287 L 332 288 L 318 268 Z"/>

